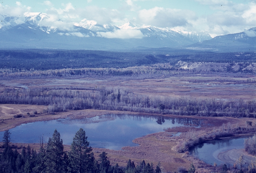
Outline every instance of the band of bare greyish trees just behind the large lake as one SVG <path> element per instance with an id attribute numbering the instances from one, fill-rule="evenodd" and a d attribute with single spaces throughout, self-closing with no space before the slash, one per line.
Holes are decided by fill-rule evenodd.
<path id="1" fill-rule="evenodd" d="M 256 100 L 149 97 L 114 88 L 5 90 L 0 104 L 48 105 L 42 113 L 101 109 L 144 113 L 255 117 Z M 163 106 L 164 108 L 162 108 Z"/>

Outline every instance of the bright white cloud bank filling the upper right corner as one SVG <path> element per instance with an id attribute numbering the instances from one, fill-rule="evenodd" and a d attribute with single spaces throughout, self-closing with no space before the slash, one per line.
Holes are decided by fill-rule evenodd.
<path id="1" fill-rule="evenodd" d="M 188 20 L 192 30 L 203 30 L 212 37 L 243 32 L 244 28 L 255 27 L 256 3 L 235 3 L 228 0 L 195 0 L 208 5 L 214 13 L 200 16 L 198 20 Z M 244 1 L 245 2 L 245 1 Z M 200 28 L 199 28 L 200 27 Z"/>

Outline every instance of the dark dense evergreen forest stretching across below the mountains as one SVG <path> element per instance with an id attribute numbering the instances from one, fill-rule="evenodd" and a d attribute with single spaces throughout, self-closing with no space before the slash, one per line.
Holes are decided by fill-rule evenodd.
<path id="1" fill-rule="evenodd" d="M 136 52 L 87 50 L 0 50 L 0 69 L 13 71 L 63 68 L 134 67 L 156 63 L 256 62 L 255 52 L 214 53 L 174 50 L 137 50 Z"/>

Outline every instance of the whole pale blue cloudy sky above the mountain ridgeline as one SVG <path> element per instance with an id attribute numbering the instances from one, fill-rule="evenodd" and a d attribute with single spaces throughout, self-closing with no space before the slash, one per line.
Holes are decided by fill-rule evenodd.
<path id="1" fill-rule="evenodd" d="M 46 13 L 49 23 L 61 26 L 84 19 L 116 26 L 131 22 L 212 37 L 256 27 L 256 0 L 0 0 L 0 13 L 17 23 L 25 12 Z"/>

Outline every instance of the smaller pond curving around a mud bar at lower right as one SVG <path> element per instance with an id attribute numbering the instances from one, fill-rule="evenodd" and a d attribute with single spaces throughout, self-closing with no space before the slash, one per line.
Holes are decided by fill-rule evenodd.
<path id="1" fill-rule="evenodd" d="M 207 142 L 196 145 L 190 150 L 190 153 L 194 153 L 200 160 L 211 165 L 213 165 L 214 162 L 218 165 L 224 164 L 225 162 L 218 159 L 218 154 L 227 150 L 244 148 L 244 139 L 245 138 L 236 138 Z"/>

